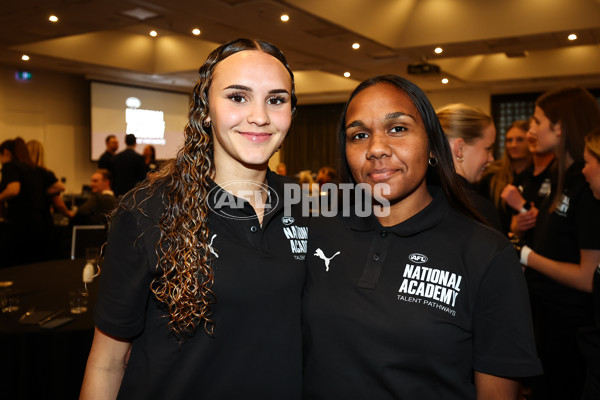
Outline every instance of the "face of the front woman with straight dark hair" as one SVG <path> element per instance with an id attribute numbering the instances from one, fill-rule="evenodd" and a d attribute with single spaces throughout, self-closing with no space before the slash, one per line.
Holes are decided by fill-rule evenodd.
<path id="1" fill-rule="evenodd" d="M 345 119 L 346 159 L 356 183 L 389 185 L 384 197 L 409 215 L 427 204 L 429 142 L 408 95 L 387 83 L 359 92 Z"/>

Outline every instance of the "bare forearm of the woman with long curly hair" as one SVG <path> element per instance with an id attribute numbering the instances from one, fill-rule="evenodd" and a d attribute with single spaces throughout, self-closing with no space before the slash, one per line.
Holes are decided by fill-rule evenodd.
<path id="1" fill-rule="evenodd" d="M 96 328 L 79 399 L 116 399 L 130 349 L 130 342 L 108 336 Z"/>

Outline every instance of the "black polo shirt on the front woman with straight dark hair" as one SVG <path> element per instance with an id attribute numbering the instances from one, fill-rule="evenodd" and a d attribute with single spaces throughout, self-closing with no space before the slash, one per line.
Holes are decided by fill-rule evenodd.
<path id="1" fill-rule="evenodd" d="M 311 220 L 305 398 L 475 399 L 473 370 L 541 372 L 516 252 L 430 191 L 393 227 Z"/>

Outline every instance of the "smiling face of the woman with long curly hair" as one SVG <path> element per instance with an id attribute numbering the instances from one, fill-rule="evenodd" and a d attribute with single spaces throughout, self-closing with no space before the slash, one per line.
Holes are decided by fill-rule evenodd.
<path id="1" fill-rule="evenodd" d="M 291 77 L 275 57 L 256 50 L 235 53 L 215 68 L 208 92 L 219 169 L 266 169 L 292 120 Z"/>

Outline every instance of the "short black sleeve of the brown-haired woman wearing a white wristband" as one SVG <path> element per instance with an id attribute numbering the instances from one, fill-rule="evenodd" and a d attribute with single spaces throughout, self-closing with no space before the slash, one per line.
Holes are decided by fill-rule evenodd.
<path id="1" fill-rule="evenodd" d="M 577 241 L 580 249 L 600 249 L 600 200 L 594 198 L 592 191 L 585 187 L 579 196 L 575 223 L 577 224 Z"/>

